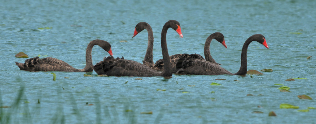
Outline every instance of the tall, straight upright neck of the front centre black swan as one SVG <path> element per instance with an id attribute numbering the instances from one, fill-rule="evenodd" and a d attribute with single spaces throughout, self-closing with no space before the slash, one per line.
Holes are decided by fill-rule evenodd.
<path id="1" fill-rule="evenodd" d="M 162 51 L 162 59 L 164 62 L 164 70 L 161 73 L 161 76 L 168 77 L 172 76 L 172 70 L 171 70 L 171 62 L 169 59 L 169 53 L 167 48 L 167 30 L 170 26 L 165 24 L 161 31 L 161 51 Z"/>

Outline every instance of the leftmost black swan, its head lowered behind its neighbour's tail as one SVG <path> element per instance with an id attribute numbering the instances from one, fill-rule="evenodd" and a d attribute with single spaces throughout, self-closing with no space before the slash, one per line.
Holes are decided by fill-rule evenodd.
<path id="1" fill-rule="evenodd" d="M 103 50 L 107 51 L 110 54 L 110 56 L 113 56 L 111 44 L 104 40 L 96 39 L 92 40 L 87 46 L 86 66 L 83 69 L 73 68 L 68 63 L 51 57 L 40 59 L 38 56 L 36 56 L 34 58 L 26 59 L 24 63 L 15 63 L 20 68 L 20 70 L 25 71 L 92 72 L 93 64 L 91 51 L 94 45 L 99 45 L 101 48 L 103 48 Z"/>

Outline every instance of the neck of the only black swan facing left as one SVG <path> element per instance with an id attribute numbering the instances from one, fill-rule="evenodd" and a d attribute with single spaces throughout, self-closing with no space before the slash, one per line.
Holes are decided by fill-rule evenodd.
<path id="1" fill-rule="evenodd" d="M 146 25 L 145 29 L 147 29 L 147 32 L 148 32 L 148 46 L 147 46 L 147 50 L 146 50 L 146 55 L 144 57 L 144 61 L 154 64 L 154 61 L 153 61 L 153 48 L 154 48 L 153 30 L 151 29 L 151 27 L 149 25 Z"/>

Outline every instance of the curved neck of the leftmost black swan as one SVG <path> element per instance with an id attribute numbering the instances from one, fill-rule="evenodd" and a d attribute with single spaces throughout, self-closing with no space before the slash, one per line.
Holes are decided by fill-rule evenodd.
<path id="1" fill-rule="evenodd" d="M 92 48 L 94 45 L 99 45 L 100 42 L 98 40 L 90 41 L 87 46 L 86 50 L 86 66 L 83 69 L 79 69 L 82 72 L 92 72 L 93 71 L 93 64 L 92 64 Z"/>

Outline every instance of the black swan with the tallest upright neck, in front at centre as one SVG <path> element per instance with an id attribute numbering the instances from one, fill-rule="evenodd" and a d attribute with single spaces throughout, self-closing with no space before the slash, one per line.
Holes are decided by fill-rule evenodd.
<path id="1" fill-rule="evenodd" d="M 161 51 L 163 60 L 166 61 L 165 66 L 167 69 L 163 70 L 162 73 L 156 72 L 155 70 L 149 68 L 142 63 L 125 60 L 123 58 L 115 59 L 112 56 L 106 57 L 103 61 L 97 63 L 94 66 L 94 71 L 97 72 L 97 74 L 106 74 L 108 76 L 172 76 L 171 63 L 169 60 L 166 40 L 167 30 L 169 27 L 171 27 L 173 30 L 178 32 L 181 37 L 183 37 L 178 21 L 170 20 L 167 21 L 163 26 L 161 31 Z"/>

